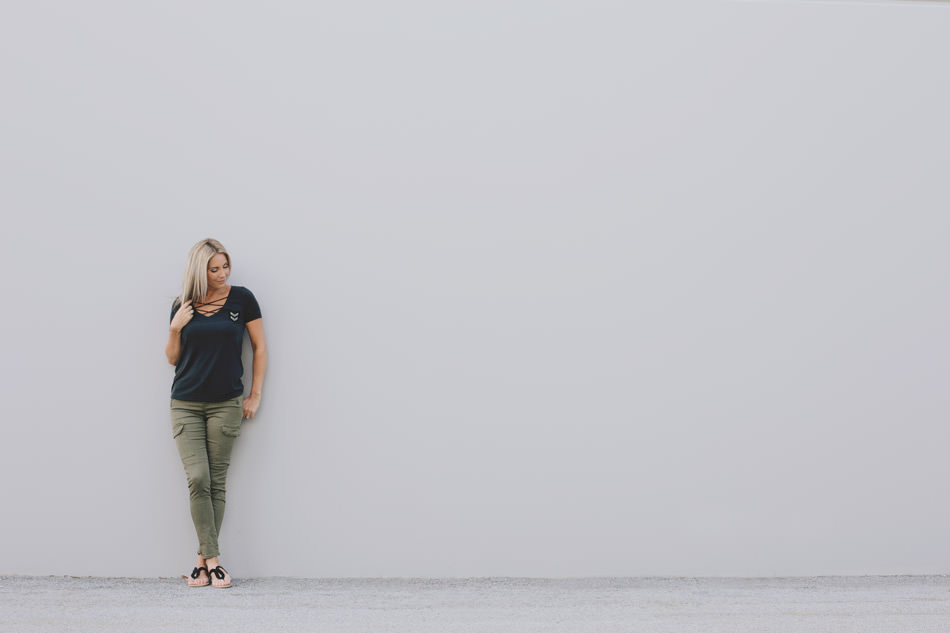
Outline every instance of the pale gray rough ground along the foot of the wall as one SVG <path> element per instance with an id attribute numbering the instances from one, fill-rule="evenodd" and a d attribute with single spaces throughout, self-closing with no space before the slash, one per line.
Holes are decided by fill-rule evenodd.
<path id="1" fill-rule="evenodd" d="M 0 576 L 3 633 L 950 631 L 947 576 L 184 578 Z"/>

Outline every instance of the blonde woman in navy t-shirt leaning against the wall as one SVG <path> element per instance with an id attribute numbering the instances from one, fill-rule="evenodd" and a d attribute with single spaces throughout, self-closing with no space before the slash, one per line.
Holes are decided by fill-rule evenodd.
<path id="1" fill-rule="evenodd" d="M 165 356 L 175 366 L 172 433 L 188 478 L 191 518 L 198 533 L 198 561 L 188 585 L 230 587 L 218 559 L 224 518 L 224 484 L 241 420 L 261 403 L 267 345 L 261 310 L 251 291 L 229 286 L 231 256 L 221 242 L 198 242 L 188 255 L 181 296 L 172 305 Z M 254 349 L 251 393 L 242 399 L 244 330 Z"/>

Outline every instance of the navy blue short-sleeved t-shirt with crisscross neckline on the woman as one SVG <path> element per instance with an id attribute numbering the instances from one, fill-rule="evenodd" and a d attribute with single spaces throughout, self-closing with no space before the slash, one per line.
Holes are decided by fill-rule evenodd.
<path id="1" fill-rule="evenodd" d="M 178 300 L 169 318 L 175 317 Z M 172 398 L 192 402 L 223 402 L 244 393 L 241 345 L 244 324 L 261 318 L 251 291 L 231 286 L 224 307 L 204 316 L 197 310 L 181 329 L 181 351 L 175 365 Z"/>

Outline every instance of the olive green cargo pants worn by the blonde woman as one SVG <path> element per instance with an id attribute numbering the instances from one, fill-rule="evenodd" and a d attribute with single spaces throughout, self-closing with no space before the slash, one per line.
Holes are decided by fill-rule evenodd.
<path id="1" fill-rule="evenodd" d="M 241 434 L 241 398 L 189 402 L 172 398 L 172 434 L 185 466 L 198 554 L 213 558 L 224 518 L 224 484 L 231 447 Z"/>

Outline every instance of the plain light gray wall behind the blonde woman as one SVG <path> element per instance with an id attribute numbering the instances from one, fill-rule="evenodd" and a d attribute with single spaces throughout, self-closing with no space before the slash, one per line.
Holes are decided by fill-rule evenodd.
<path id="1" fill-rule="evenodd" d="M 0 573 L 195 543 L 168 308 L 271 365 L 236 575 L 933 573 L 950 8 L 0 9 Z"/>

